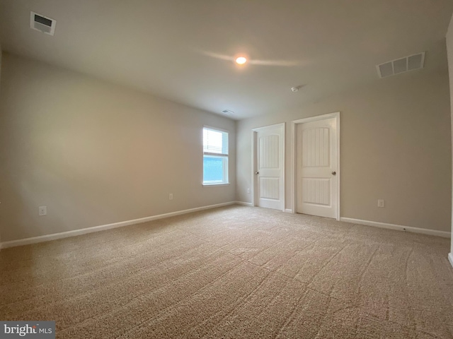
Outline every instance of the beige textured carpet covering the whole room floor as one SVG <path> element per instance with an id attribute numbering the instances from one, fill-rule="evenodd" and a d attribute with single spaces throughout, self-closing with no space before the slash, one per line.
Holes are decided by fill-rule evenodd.
<path id="1" fill-rule="evenodd" d="M 231 206 L 0 251 L 57 338 L 453 338 L 449 239 Z"/>

